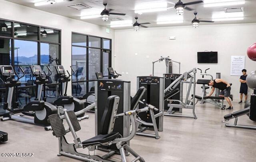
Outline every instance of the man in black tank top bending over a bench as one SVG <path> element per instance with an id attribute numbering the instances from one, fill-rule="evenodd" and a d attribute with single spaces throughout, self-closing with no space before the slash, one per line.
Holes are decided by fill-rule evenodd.
<path id="1" fill-rule="evenodd" d="M 220 97 L 224 97 L 225 100 L 228 102 L 229 107 L 226 108 L 227 110 L 233 110 L 233 106 L 231 104 L 231 101 L 228 97 L 231 98 L 231 100 L 233 100 L 233 96 L 230 95 L 230 84 L 228 84 L 227 81 L 223 80 L 223 79 L 214 79 L 213 81 L 211 80 L 210 82 L 208 82 L 208 86 L 212 86 L 212 91 L 208 94 L 208 96 L 211 96 L 215 90 L 215 88 L 218 88 L 221 90 L 220 92 Z M 225 108 L 221 108 L 222 110 L 224 110 Z"/>

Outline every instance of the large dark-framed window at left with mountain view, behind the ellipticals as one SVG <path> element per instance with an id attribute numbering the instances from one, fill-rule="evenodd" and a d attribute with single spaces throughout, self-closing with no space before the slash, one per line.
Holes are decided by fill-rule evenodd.
<path id="1" fill-rule="evenodd" d="M 0 20 L 0 65 L 12 65 L 18 75 L 21 75 L 18 67 L 21 66 L 25 73 L 20 79 L 21 86 L 14 93 L 16 98 L 13 101 L 18 101 L 20 106 L 34 100 L 36 94 L 35 78 L 31 74 L 30 65 L 41 65 L 46 73 L 46 66 L 52 70 L 50 84 L 46 86 L 47 100 L 58 95 L 54 65 L 60 64 L 60 32 L 54 28 Z M 0 95 L 1 115 L 5 96 L 5 87 L 1 83 Z"/>

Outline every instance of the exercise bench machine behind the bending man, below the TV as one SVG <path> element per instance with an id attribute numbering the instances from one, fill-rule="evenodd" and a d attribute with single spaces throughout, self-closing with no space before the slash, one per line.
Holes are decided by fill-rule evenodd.
<path id="1" fill-rule="evenodd" d="M 202 78 L 204 78 L 204 76 L 210 76 L 211 77 L 211 80 L 213 80 L 213 77 L 211 74 L 207 74 L 206 71 L 209 70 L 210 68 L 206 69 L 204 71 L 204 73 L 202 73 L 202 70 L 200 68 L 197 68 L 198 70 L 200 70 L 200 75 L 202 75 Z M 207 103 L 210 103 L 210 104 L 213 104 L 215 106 L 218 106 L 218 108 L 225 108 L 226 105 L 223 104 L 223 101 L 224 101 L 224 97 L 219 97 L 217 93 L 219 90 L 216 89 L 216 96 L 210 96 L 210 97 L 206 97 L 206 90 L 209 89 L 210 87 L 209 86 L 206 86 L 208 84 L 210 80 L 207 80 L 207 79 L 198 79 L 196 84 L 202 84 L 201 88 L 202 88 L 202 94 L 201 96 L 198 96 L 198 95 L 195 95 L 195 98 L 197 100 L 200 101 L 201 104 L 204 104 L 204 102 L 207 102 Z M 192 96 L 194 97 L 194 96 Z M 221 101 L 221 102 L 220 102 Z"/>

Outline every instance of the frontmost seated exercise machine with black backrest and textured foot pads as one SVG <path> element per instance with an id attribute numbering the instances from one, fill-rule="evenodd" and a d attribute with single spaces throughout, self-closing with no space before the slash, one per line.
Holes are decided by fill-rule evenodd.
<path id="1" fill-rule="evenodd" d="M 141 100 L 140 97 L 143 95 L 143 92 L 145 92 L 144 88 L 143 90 L 140 90 L 136 93 L 136 97 L 134 97 L 133 99 L 134 107 L 136 107 L 139 101 Z M 101 122 L 98 128 L 98 135 L 83 142 L 81 142 L 80 138 L 76 135 L 76 131 L 81 129 L 80 124 L 76 119 L 76 116 L 82 113 L 83 110 L 73 112 L 67 111 L 65 108 L 59 108 L 58 114 L 52 114 L 51 116 L 49 116 L 53 134 L 54 136 L 59 138 L 58 156 L 64 155 L 86 162 L 113 162 L 112 160 L 108 160 L 108 158 L 110 158 L 116 153 L 113 150 L 108 152 L 104 156 L 98 156 L 82 154 L 77 152 L 76 149 L 88 148 L 90 152 L 98 149 L 100 146 L 104 148 L 109 148 L 112 145 L 115 145 L 115 147 L 119 150 L 122 162 L 127 162 L 126 155 L 128 154 L 128 152 L 130 152 L 130 154 L 132 154 L 135 157 L 135 159 L 132 160 L 132 162 L 145 162 L 145 160 L 141 156 L 139 156 L 134 150 L 132 150 L 132 148 L 130 148 L 128 143 L 136 134 L 136 115 L 140 112 L 152 110 L 154 109 L 154 106 L 148 105 L 148 107 L 146 108 L 128 110 L 126 112 L 118 113 L 119 103 L 120 98 L 116 95 L 112 95 L 107 98 L 106 105 L 104 106 L 104 113 L 99 119 Z M 126 137 L 123 137 L 119 132 L 113 131 L 116 119 L 123 117 L 129 117 L 129 121 L 132 124 L 132 131 Z M 66 130 L 62 121 L 63 119 L 66 119 L 66 122 L 68 123 L 69 128 Z M 124 129 L 128 129 L 128 131 L 130 130 L 129 127 Z M 65 138 L 65 135 L 68 132 L 71 132 L 74 138 L 74 143 L 72 144 L 69 144 Z"/>

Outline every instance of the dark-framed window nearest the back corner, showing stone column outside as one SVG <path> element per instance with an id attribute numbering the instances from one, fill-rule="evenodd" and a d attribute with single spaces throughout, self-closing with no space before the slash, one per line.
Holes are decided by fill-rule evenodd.
<path id="1" fill-rule="evenodd" d="M 79 97 L 89 92 L 94 87 L 96 72 L 108 76 L 110 58 L 110 39 L 72 33 L 72 67 L 76 71 L 72 76 L 72 95 Z"/>

